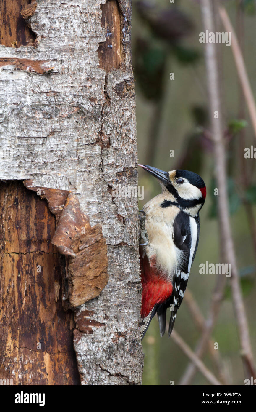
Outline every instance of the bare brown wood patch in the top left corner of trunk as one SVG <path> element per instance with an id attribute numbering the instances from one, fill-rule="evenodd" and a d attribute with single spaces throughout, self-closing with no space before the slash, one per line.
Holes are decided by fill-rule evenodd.
<path id="1" fill-rule="evenodd" d="M 0 44 L 7 47 L 33 45 L 36 40 L 21 15 L 30 0 L 1 0 L 0 1 Z"/>

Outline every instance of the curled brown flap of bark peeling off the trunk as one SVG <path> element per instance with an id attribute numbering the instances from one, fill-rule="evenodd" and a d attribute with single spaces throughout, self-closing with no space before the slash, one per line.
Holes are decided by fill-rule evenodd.
<path id="1" fill-rule="evenodd" d="M 90 219 L 81 211 L 72 192 L 35 187 L 32 180 L 23 183 L 46 199 L 50 211 L 56 215 L 58 225 L 51 240 L 66 256 L 62 279 L 64 309 L 74 309 L 99 296 L 108 283 L 107 246 L 101 225 L 91 227 Z"/>

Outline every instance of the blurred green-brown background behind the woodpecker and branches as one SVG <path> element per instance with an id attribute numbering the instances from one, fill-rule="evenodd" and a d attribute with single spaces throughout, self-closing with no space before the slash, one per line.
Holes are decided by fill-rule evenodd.
<path id="1" fill-rule="evenodd" d="M 238 40 L 256 98 L 256 2 L 223 2 Z M 188 289 L 205 318 L 208 316 L 216 275 L 199 274 L 199 264 L 221 262 L 214 196 L 214 157 L 209 138 L 208 91 L 205 77 L 204 31 L 201 10 L 196 0 L 133 1 L 133 65 L 136 87 L 138 159 L 164 171 L 187 169 L 205 181 L 207 197 L 200 213 L 201 228 L 196 258 L 189 276 Z M 225 31 L 217 19 L 218 31 Z M 251 345 L 256 359 L 256 173 L 255 159 L 244 159 L 244 148 L 256 147 L 246 104 L 240 90 L 231 47 L 218 44 L 223 129 L 228 158 L 228 196 L 236 258 L 249 323 Z M 170 73 L 174 79 L 170 80 Z M 171 157 L 174 151 L 174 156 Z M 157 180 L 139 169 L 139 185 L 144 200 L 139 209 L 160 193 Z M 175 330 L 191 349 L 195 349 L 200 331 L 185 299 L 178 311 Z M 244 385 L 238 330 L 227 280 L 224 299 L 212 333 L 218 342 L 218 356 L 226 383 Z M 159 335 L 155 317 L 143 339 L 144 385 L 177 385 L 189 359 L 173 340 Z M 209 351 L 203 357 L 217 374 Z M 196 372 L 191 385 L 209 384 Z"/>

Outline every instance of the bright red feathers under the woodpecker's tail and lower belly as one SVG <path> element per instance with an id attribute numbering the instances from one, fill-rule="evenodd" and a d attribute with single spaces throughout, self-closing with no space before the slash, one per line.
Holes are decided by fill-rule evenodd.
<path id="1" fill-rule="evenodd" d="M 141 316 L 145 318 L 155 304 L 165 302 L 171 296 L 173 285 L 160 277 L 154 262 L 151 262 L 150 265 L 146 255 L 143 259 L 140 259 L 140 265 L 142 283 Z"/>

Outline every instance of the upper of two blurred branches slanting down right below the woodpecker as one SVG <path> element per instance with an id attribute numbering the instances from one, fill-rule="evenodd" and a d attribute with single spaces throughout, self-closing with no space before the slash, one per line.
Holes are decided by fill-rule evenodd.
<path id="1" fill-rule="evenodd" d="M 187 306 L 194 320 L 194 323 L 197 325 L 199 330 L 203 331 L 204 326 L 205 326 L 205 318 L 203 314 L 201 313 L 201 310 L 198 307 L 197 302 L 194 300 L 192 293 L 188 289 L 186 289 L 184 300 L 187 303 Z M 212 361 L 214 365 L 216 366 L 219 379 L 224 385 L 228 385 L 226 376 L 223 372 L 223 365 L 221 362 L 221 357 L 219 356 L 219 352 L 216 349 L 214 349 L 214 341 L 211 338 L 208 340 L 208 349 L 211 354 Z"/>

